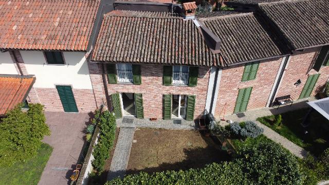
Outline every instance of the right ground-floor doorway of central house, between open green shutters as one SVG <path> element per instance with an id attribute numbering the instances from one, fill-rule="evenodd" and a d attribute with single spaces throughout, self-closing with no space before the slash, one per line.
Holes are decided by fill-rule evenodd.
<path id="1" fill-rule="evenodd" d="M 186 95 L 172 95 L 172 118 L 186 117 Z"/>

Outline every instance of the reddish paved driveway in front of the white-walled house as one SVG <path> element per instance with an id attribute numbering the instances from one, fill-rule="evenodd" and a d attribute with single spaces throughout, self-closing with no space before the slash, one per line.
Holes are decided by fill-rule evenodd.
<path id="1" fill-rule="evenodd" d="M 88 113 L 45 112 L 51 135 L 44 142 L 53 147 L 39 184 L 69 184 L 84 144 Z"/>

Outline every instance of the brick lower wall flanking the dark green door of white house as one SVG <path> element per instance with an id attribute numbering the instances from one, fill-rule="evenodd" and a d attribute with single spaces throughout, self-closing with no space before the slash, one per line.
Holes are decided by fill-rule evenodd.
<path id="1" fill-rule="evenodd" d="M 40 103 L 45 111 L 63 112 L 63 106 L 56 88 L 35 88 Z M 94 112 L 96 109 L 95 97 L 92 89 L 72 89 L 79 112 Z"/>

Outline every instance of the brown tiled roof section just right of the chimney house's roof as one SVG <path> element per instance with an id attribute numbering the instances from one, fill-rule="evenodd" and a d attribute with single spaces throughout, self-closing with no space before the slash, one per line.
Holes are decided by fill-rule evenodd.
<path id="1" fill-rule="evenodd" d="M 200 18 L 200 21 L 221 39 L 221 54 L 228 65 L 283 54 L 254 13 Z"/>

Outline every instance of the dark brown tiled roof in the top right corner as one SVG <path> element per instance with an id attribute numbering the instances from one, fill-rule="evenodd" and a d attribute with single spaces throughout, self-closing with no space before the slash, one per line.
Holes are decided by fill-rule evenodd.
<path id="1" fill-rule="evenodd" d="M 292 49 L 329 43 L 328 0 L 289 0 L 259 6 L 280 29 Z"/>

